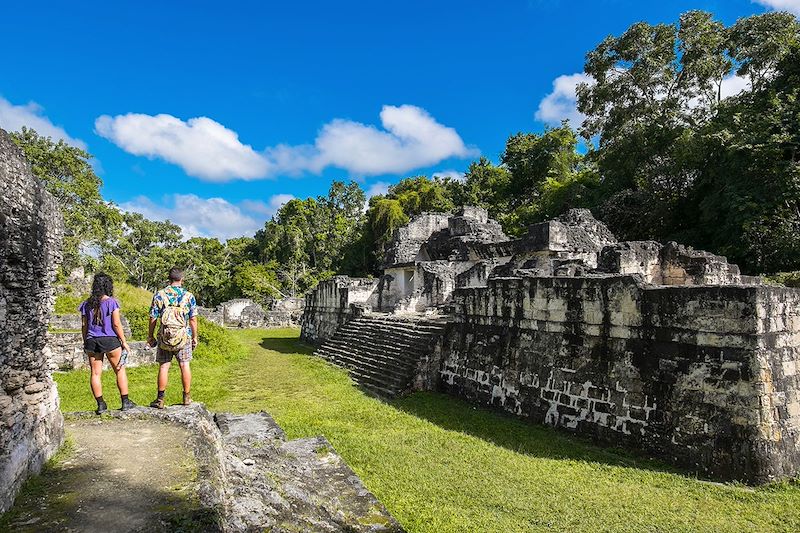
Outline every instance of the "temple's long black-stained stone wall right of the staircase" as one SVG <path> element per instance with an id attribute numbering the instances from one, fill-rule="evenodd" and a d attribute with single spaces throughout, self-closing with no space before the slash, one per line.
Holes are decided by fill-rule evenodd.
<path id="1" fill-rule="evenodd" d="M 800 291 L 525 277 L 454 300 L 450 393 L 716 478 L 800 470 Z"/>

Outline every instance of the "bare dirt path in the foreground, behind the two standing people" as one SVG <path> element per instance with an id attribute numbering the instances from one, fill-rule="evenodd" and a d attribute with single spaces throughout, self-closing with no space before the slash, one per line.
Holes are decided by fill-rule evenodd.
<path id="1" fill-rule="evenodd" d="M 17 498 L 10 531 L 208 531 L 185 429 L 154 420 L 72 420 L 69 445 Z"/>

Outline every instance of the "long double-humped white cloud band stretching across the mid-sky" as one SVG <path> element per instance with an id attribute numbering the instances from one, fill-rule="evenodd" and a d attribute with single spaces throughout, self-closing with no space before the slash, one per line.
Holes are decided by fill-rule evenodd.
<path id="1" fill-rule="evenodd" d="M 159 157 L 209 181 L 319 174 L 327 167 L 364 176 L 401 174 L 479 153 L 422 108 L 384 106 L 380 119 L 382 129 L 335 119 L 321 128 L 313 144 L 277 145 L 263 152 L 242 144 L 234 131 L 206 117 L 184 122 L 163 114 L 103 115 L 95 129 L 127 152 Z"/>

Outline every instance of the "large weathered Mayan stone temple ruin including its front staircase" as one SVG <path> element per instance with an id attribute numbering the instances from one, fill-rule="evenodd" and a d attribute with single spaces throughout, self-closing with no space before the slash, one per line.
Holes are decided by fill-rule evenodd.
<path id="1" fill-rule="evenodd" d="M 588 210 L 510 239 L 486 211 L 399 229 L 377 279 L 307 297 L 303 338 L 364 388 L 441 390 L 716 479 L 800 471 L 800 290 Z"/>

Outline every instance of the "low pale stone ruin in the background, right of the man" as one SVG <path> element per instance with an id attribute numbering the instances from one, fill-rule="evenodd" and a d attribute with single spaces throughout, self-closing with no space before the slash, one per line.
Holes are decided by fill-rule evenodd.
<path id="1" fill-rule="evenodd" d="M 224 327 L 291 328 L 300 324 L 303 298 L 275 298 L 265 309 L 249 298 L 238 298 L 219 304 L 214 309 L 200 307 L 200 316 Z"/>

